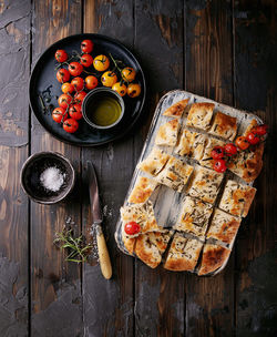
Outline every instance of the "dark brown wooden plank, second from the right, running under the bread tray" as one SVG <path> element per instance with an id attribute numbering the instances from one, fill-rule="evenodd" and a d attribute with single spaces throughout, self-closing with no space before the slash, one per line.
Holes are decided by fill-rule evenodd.
<path id="1" fill-rule="evenodd" d="M 186 89 L 233 105 L 232 4 L 186 3 Z M 234 252 L 217 276 L 189 275 L 186 336 L 230 336 L 234 314 Z"/>

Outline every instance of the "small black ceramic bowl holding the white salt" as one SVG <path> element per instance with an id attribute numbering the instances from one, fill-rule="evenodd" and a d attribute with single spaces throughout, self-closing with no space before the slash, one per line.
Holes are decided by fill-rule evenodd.
<path id="1" fill-rule="evenodd" d="M 49 167 L 57 167 L 63 183 L 59 191 L 45 188 L 41 183 L 42 173 Z M 21 168 L 20 181 L 25 194 L 40 204 L 55 204 L 64 200 L 73 190 L 75 171 L 70 161 L 57 152 L 39 152 L 31 155 Z"/>

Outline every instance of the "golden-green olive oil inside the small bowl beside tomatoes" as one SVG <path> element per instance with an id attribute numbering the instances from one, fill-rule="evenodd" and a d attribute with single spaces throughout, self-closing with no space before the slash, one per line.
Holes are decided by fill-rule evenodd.
<path id="1" fill-rule="evenodd" d="M 99 126 L 109 126 L 115 123 L 121 116 L 121 104 L 113 96 L 102 95 L 98 101 L 88 106 L 90 121 Z"/>

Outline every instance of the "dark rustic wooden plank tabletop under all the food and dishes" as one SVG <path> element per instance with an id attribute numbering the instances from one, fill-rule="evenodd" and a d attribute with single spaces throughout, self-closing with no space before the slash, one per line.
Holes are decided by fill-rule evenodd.
<path id="1" fill-rule="evenodd" d="M 72 0 L 0 2 L 0 336 L 277 336 L 276 11 L 274 0 Z M 119 39 L 147 75 L 144 115 L 115 143 L 81 149 L 53 139 L 28 103 L 41 52 L 70 34 Z M 152 270 L 123 255 L 113 237 L 119 207 L 163 93 L 184 88 L 255 111 L 270 125 L 258 193 L 219 275 Z M 66 203 L 32 203 L 20 187 L 23 162 L 65 154 L 79 173 Z M 90 225 L 84 181 L 93 161 L 104 205 L 113 278 L 96 262 L 64 262 L 53 244 L 65 222 Z"/>

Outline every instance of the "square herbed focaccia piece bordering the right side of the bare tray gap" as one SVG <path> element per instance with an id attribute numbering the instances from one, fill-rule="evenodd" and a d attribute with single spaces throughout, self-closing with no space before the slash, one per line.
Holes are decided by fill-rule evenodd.
<path id="1" fill-rule="evenodd" d="M 181 217 L 173 228 L 204 238 L 212 212 L 213 205 L 186 196 L 182 206 Z"/>

